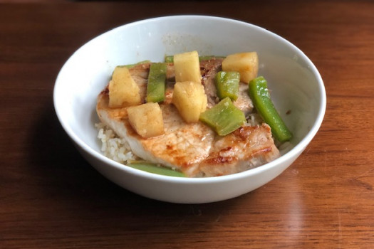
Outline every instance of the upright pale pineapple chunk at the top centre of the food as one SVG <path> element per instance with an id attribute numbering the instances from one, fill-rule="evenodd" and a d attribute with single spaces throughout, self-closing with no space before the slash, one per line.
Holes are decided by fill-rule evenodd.
<path id="1" fill-rule="evenodd" d="M 175 81 L 194 81 L 201 83 L 199 54 L 197 51 L 178 53 L 174 55 Z"/>

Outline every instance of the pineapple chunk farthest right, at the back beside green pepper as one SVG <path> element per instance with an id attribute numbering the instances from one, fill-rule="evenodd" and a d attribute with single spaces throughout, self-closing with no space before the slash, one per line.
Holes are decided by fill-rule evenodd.
<path id="1" fill-rule="evenodd" d="M 222 61 L 222 70 L 240 73 L 240 81 L 248 84 L 257 77 L 259 56 L 256 52 L 234 53 Z"/>

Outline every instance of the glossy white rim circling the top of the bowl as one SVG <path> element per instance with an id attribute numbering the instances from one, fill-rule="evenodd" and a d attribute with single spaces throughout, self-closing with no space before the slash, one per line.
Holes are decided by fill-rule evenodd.
<path id="1" fill-rule="evenodd" d="M 202 178 L 164 176 L 164 175 L 160 175 L 160 174 L 152 174 L 152 173 L 149 173 L 149 172 L 146 172 L 146 171 L 141 171 L 139 169 L 134 169 L 130 166 L 127 166 L 125 164 L 121 164 L 117 161 L 109 159 L 108 157 L 105 157 L 104 154 L 102 154 L 100 152 L 97 152 L 95 149 L 91 148 L 90 146 L 88 146 L 88 144 L 83 142 L 83 140 L 80 139 L 80 137 L 78 137 L 78 135 L 75 132 L 73 132 L 73 130 L 69 127 L 67 122 L 65 122 L 63 120 L 63 116 L 61 115 L 61 112 L 59 111 L 58 101 L 57 101 L 57 98 L 58 98 L 58 91 L 57 90 L 58 90 L 58 84 L 60 82 L 61 75 L 63 74 L 63 71 L 64 71 L 63 69 L 68 65 L 69 61 L 73 58 L 73 56 L 78 51 L 82 50 L 88 43 L 91 43 L 91 42 L 95 41 L 96 39 L 100 38 L 101 36 L 105 36 L 108 33 L 115 32 L 116 30 L 118 30 L 120 28 L 125 28 L 126 26 L 136 26 L 136 25 L 141 25 L 142 23 L 148 23 L 148 22 L 154 22 L 154 21 L 166 21 L 167 19 L 175 19 L 175 18 L 183 19 L 185 21 L 187 19 L 196 20 L 196 18 L 201 18 L 201 19 L 204 19 L 204 21 L 207 21 L 207 20 L 209 20 L 209 21 L 227 21 L 227 22 L 231 22 L 233 24 L 240 24 L 240 25 L 244 25 L 244 26 L 249 26 L 251 28 L 255 28 L 255 29 L 258 29 L 262 32 L 268 33 L 271 36 L 276 36 L 276 38 L 280 39 L 282 42 L 286 43 L 288 46 L 291 46 L 295 51 L 298 51 L 299 56 L 301 56 L 303 58 L 303 60 L 305 60 L 308 63 L 309 69 L 311 70 L 313 75 L 316 77 L 316 81 L 318 83 L 318 95 L 321 98 L 320 105 L 318 105 L 319 110 L 318 110 L 318 114 L 317 114 L 317 119 L 313 122 L 313 125 L 311 126 L 311 128 L 307 132 L 306 136 L 303 137 L 303 139 L 301 139 L 301 141 L 298 142 L 298 144 L 296 144 L 294 147 L 292 147 L 288 152 L 281 155 L 281 157 L 275 159 L 274 161 L 270 161 L 267 164 L 263 164 L 261 166 L 255 167 L 253 169 L 248 169 L 246 171 L 242 171 L 242 172 L 239 172 L 239 173 L 236 173 L 236 174 L 229 174 L 229 175 L 225 175 L 225 176 L 202 177 Z M 83 149 L 83 151 L 85 153 L 90 154 L 91 156 L 95 157 L 96 160 L 99 160 L 100 162 L 102 162 L 104 164 L 107 164 L 107 166 L 112 166 L 112 167 L 115 167 L 117 169 L 126 171 L 128 174 L 133 174 L 134 176 L 138 176 L 138 177 L 145 178 L 145 179 L 153 179 L 155 181 L 168 181 L 170 183 L 178 183 L 178 184 L 192 184 L 192 183 L 194 183 L 194 184 L 210 184 L 210 183 L 214 183 L 214 182 L 244 179 L 244 178 L 247 178 L 249 176 L 259 174 L 262 171 L 267 171 L 268 169 L 271 169 L 271 168 L 273 168 L 273 167 L 275 167 L 279 164 L 283 164 L 288 159 L 296 158 L 296 156 L 298 156 L 298 154 L 301 154 L 301 152 L 303 152 L 303 150 L 308 146 L 309 142 L 311 142 L 313 137 L 316 135 L 316 133 L 318 132 L 318 129 L 321 127 L 321 124 L 323 122 L 323 118 L 324 118 L 324 115 L 325 115 L 325 112 L 326 112 L 326 89 L 324 87 L 323 79 L 321 78 L 320 73 L 318 72 L 318 70 L 317 70 L 316 66 L 313 64 L 313 62 L 308 58 L 308 56 L 306 56 L 306 54 L 303 53 L 303 51 L 301 51 L 293 43 L 286 40 L 286 38 L 283 38 L 283 37 L 279 36 L 278 34 L 267 30 L 266 28 L 256 26 L 252 23 L 247 23 L 245 21 L 240 21 L 240 20 L 237 20 L 237 19 L 221 17 L 221 16 L 173 15 L 173 16 L 159 16 L 159 17 L 153 17 L 153 18 L 145 18 L 145 19 L 142 19 L 142 20 L 139 20 L 139 21 L 133 21 L 133 22 L 130 22 L 130 23 L 125 23 L 121 26 L 117 26 L 117 27 L 112 28 L 108 31 L 105 31 L 104 33 L 101 33 L 98 36 L 95 36 L 94 38 L 90 39 L 89 41 L 84 43 L 82 46 L 80 46 L 73 54 L 71 54 L 71 56 L 68 58 L 68 60 L 66 60 L 66 62 L 63 64 L 61 70 L 58 72 L 56 82 L 55 82 L 55 85 L 54 85 L 54 89 L 53 89 L 53 107 L 55 109 L 56 115 L 58 117 L 58 120 L 59 120 L 61 126 L 63 127 L 65 132 L 68 134 L 68 136 L 71 137 L 73 142 L 75 142 L 75 144 L 78 147 L 80 147 L 80 149 Z M 91 164 L 91 165 L 93 165 L 93 164 Z"/>

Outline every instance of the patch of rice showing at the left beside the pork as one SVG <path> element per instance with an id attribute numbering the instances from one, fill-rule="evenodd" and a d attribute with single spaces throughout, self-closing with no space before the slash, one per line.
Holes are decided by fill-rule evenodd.
<path id="1" fill-rule="evenodd" d="M 98 129 L 98 139 L 101 141 L 101 152 L 110 159 L 121 164 L 138 158 L 131 152 L 130 146 L 125 139 L 118 137 L 115 132 L 103 123 L 95 124 Z"/>

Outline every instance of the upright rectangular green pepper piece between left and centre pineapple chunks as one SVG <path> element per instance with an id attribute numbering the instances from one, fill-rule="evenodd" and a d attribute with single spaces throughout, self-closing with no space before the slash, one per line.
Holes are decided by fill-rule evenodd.
<path id="1" fill-rule="evenodd" d="M 152 63 L 147 83 L 147 102 L 165 100 L 166 63 Z"/>

